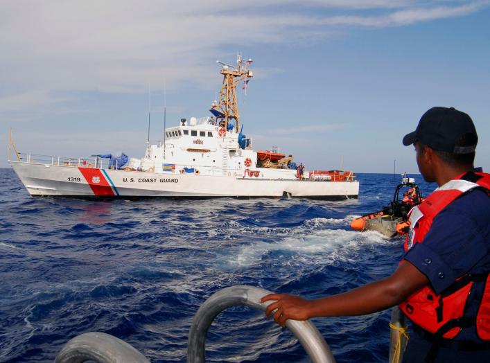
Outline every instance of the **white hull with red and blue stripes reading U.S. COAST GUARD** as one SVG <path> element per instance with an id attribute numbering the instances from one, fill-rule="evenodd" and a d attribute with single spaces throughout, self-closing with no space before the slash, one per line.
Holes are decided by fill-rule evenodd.
<path id="1" fill-rule="evenodd" d="M 358 182 L 111 170 L 10 161 L 30 195 L 73 197 L 357 198 Z"/>

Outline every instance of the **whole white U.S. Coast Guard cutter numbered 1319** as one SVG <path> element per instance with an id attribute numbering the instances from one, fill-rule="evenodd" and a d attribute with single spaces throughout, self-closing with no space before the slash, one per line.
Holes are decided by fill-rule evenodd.
<path id="1" fill-rule="evenodd" d="M 9 162 L 30 195 L 78 197 L 304 197 L 338 200 L 358 197 L 352 172 L 306 171 L 292 157 L 252 150 L 242 134 L 236 85 L 245 87 L 252 60 L 236 67 L 219 62 L 220 100 L 204 118 L 182 118 L 164 130 L 164 142 L 148 144 L 141 159 L 93 155 L 45 157 L 17 152 Z M 107 161 L 104 157 L 110 157 Z"/>

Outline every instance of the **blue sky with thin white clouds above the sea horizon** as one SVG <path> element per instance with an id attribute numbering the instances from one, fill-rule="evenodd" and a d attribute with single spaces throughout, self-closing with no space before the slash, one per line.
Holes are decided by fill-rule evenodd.
<path id="1" fill-rule="evenodd" d="M 468 113 L 490 169 L 490 1 L 0 1 L 0 168 L 19 152 L 143 157 L 211 116 L 216 60 L 252 58 L 243 132 L 307 169 L 417 172 L 401 139 L 433 106 Z M 13 157 L 12 157 L 13 158 Z"/>

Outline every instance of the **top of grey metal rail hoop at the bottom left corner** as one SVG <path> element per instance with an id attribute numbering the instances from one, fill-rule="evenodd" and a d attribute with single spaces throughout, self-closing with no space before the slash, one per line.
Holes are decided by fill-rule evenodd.
<path id="1" fill-rule="evenodd" d="M 112 335 L 91 332 L 80 334 L 64 344 L 55 363 L 150 363 L 130 344 Z"/>

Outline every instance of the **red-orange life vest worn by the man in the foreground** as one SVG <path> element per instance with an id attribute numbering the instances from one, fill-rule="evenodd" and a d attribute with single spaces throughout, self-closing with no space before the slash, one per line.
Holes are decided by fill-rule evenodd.
<path id="1" fill-rule="evenodd" d="M 473 188 L 484 188 L 489 194 L 490 174 L 467 172 L 437 188 L 419 206 L 415 206 L 409 213 L 410 231 L 405 238 L 405 251 L 417 243 L 423 243 L 423 238 L 436 215 Z M 473 284 L 482 281 L 485 281 L 485 287 L 477 317 L 465 317 L 466 300 Z M 452 339 L 461 332 L 462 328 L 476 325 L 478 337 L 490 341 L 489 272 L 460 276 L 453 285 L 439 295 L 428 285 L 422 287 L 403 301 L 400 308 L 414 324 L 436 337 Z"/>

